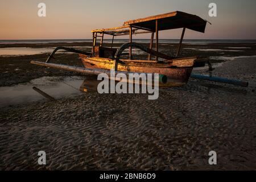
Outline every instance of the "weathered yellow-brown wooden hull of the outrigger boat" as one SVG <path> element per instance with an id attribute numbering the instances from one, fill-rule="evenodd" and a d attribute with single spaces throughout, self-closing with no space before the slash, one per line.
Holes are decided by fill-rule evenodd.
<path id="1" fill-rule="evenodd" d="M 80 55 L 80 59 L 85 68 L 113 69 L 114 60 L 101 57 L 87 57 Z M 134 61 L 134 62 L 133 62 Z M 171 68 L 168 64 L 159 63 L 136 63 L 135 60 L 120 60 L 118 71 L 140 72 L 140 73 L 159 73 L 166 75 L 168 80 L 160 87 L 181 86 L 187 84 L 192 72 L 191 68 Z"/>

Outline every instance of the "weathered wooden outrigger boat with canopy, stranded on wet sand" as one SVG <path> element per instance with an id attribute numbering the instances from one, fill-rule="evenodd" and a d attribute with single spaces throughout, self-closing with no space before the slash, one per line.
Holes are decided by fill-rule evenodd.
<path id="1" fill-rule="evenodd" d="M 204 20 L 196 15 L 183 13 L 181 11 L 174 11 L 171 13 L 129 20 L 124 22 L 123 26 L 121 27 L 92 30 L 92 52 L 84 52 L 68 47 L 57 47 L 48 57 L 46 63 L 40 61 L 31 61 L 31 63 L 43 65 L 46 67 L 66 69 L 69 71 L 88 73 L 94 75 L 97 75 L 102 72 L 109 73 L 110 69 L 114 69 L 117 73 L 159 73 L 159 86 L 181 86 L 188 82 L 189 77 L 191 77 L 191 72 L 193 68 L 204 67 L 205 63 L 208 63 L 209 70 L 212 70 L 212 66 L 210 65 L 209 61 L 203 57 L 179 56 L 185 30 L 189 29 L 204 33 L 206 25 L 207 20 Z M 166 55 L 164 53 L 159 52 L 159 31 L 172 30 L 176 28 L 183 28 L 180 42 L 179 45 L 177 46 L 176 55 Z M 133 42 L 133 35 L 136 34 L 151 34 L 151 41 L 148 47 L 144 46 L 143 44 Z M 104 35 L 112 36 L 111 47 L 104 47 Z M 118 49 L 113 48 L 115 36 L 122 35 L 129 35 L 129 42 L 123 44 Z M 101 38 L 100 43 L 97 43 L 98 37 Z M 154 38 L 155 49 L 153 48 Z M 146 52 L 147 60 L 133 59 L 133 48 L 141 49 L 141 51 Z M 84 68 L 49 63 L 55 52 L 59 49 L 79 53 Z M 123 51 L 125 51 L 125 49 L 129 49 L 129 57 L 127 59 L 122 59 L 121 57 L 124 55 Z M 200 78 L 200 76 L 197 75 L 196 78 Z M 200 79 L 212 79 L 210 81 L 220 81 L 220 79 L 218 79 L 217 77 L 211 77 L 210 79 L 201 77 Z M 227 83 L 232 82 L 232 80 L 224 80 L 224 82 L 225 81 Z M 223 80 L 221 82 L 223 82 Z M 239 81 L 234 82 L 232 84 L 242 86 L 245 86 L 246 84 L 245 82 L 243 82 L 242 84 Z"/>

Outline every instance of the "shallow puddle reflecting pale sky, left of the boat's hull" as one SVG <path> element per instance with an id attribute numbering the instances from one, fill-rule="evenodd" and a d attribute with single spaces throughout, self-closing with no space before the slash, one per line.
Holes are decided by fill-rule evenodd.
<path id="1" fill-rule="evenodd" d="M 46 92 L 53 98 L 74 97 L 82 94 L 80 86 L 85 77 L 42 77 L 31 80 L 27 84 L 0 87 L 0 107 L 26 104 L 45 100 L 33 90 L 33 86 Z"/>

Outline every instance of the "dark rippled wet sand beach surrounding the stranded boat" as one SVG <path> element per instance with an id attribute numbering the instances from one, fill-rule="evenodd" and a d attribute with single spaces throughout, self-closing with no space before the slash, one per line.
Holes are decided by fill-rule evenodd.
<path id="1" fill-rule="evenodd" d="M 59 45 L 12 47 L 56 46 Z M 167 50 L 177 45 L 162 46 Z M 248 81 L 249 86 L 191 78 L 185 86 L 160 90 L 157 100 L 147 100 L 146 94 L 84 93 L 56 101 L 1 107 L 0 169 L 255 170 L 256 57 L 251 57 L 255 56 L 255 43 L 186 44 L 183 48 L 181 56 L 200 53 L 219 63 L 214 76 Z M 0 86 L 43 76 L 77 76 L 29 63 L 46 56 L 0 57 Z M 54 62 L 81 65 L 76 54 L 64 55 Z M 193 73 L 209 74 L 206 69 L 195 69 Z M 47 154 L 46 166 L 38 165 L 41 150 Z M 213 166 L 208 163 L 208 152 L 212 150 L 217 152 L 217 165 Z"/>

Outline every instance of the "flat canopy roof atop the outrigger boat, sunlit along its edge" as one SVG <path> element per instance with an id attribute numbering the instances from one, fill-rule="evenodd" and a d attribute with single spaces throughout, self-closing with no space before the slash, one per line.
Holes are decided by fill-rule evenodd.
<path id="1" fill-rule="evenodd" d="M 207 20 L 204 20 L 199 16 L 184 13 L 181 11 L 174 11 L 166 14 L 148 16 L 146 18 L 128 20 L 123 23 L 122 27 L 93 30 L 92 32 L 104 32 L 104 34 L 115 36 L 129 35 L 129 27 L 132 26 L 133 34 L 145 34 L 155 32 L 156 20 L 158 21 L 158 31 L 171 30 L 175 28 L 188 28 L 190 30 L 204 33 L 205 26 L 207 24 Z"/>

